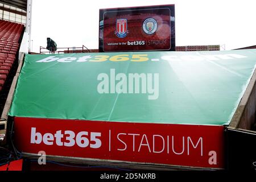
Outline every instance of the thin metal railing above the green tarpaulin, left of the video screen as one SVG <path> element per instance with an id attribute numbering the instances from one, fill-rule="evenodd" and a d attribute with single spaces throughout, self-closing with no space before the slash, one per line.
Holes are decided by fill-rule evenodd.
<path id="1" fill-rule="evenodd" d="M 51 54 L 51 53 L 86 53 L 90 50 L 82 45 L 82 47 L 58 47 L 56 51 L 49 51 L 47 48 L 40 46 L 40 54 Z"/>

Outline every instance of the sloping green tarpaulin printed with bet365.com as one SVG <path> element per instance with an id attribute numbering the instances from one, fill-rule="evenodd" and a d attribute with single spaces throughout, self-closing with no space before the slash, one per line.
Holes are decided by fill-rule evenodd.
<path id="1" fill-rule="evenodd" d="M 10 116 L 228 125 L 256 49 L 26 55 Z"/>

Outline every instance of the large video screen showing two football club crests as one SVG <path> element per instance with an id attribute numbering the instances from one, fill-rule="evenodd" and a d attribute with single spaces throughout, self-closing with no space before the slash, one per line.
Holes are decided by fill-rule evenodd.
<path id="1" fill-rule="evenodd" d="M 175 6 L 100 9 L 99 51 L 175 51 Z"/>

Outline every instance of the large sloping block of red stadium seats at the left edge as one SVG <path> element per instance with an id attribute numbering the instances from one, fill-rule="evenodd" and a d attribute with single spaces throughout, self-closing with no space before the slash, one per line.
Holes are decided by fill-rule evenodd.
<path id="1" fill-rule="evenodd" d="M 23 28 L 22 24 L 0 20 L 0 91 L 16 59 Z"/>

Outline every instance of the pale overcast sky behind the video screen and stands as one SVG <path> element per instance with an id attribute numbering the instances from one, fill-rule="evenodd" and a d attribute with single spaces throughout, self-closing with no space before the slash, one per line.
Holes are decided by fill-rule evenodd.
<path id="1" fill-rule="evenodd" d="M 98 48 L 99 9 L 175 4 L 176 46 L 225 44 L 225 49 L 256 45 L 253 0 L 34 0 L 32 51 L 47 46 Z"/>

